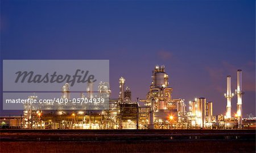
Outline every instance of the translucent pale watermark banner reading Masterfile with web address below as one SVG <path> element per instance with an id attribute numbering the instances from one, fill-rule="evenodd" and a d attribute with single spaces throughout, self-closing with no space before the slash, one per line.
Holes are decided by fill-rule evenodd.
<path id="1" fill-rule="evenodd" d="M 3 60 L 4 110 L 106 110 L 109 60 Z"/>

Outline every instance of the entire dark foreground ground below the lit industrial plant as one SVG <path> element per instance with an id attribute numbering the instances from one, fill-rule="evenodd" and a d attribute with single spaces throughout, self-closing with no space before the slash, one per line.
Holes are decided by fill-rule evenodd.
<path id="1" fill-rule="evenodd" d="M 255 130 L 1 130 L 1 152 L 255 152 Z"/>

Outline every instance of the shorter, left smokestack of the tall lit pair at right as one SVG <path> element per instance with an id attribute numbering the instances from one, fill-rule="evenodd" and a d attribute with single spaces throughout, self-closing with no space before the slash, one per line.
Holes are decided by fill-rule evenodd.
<path id="1" fill-rule="evenodd" d="M 231 76 L 226 77 L 226 119 L 231 118 L 231 98 L 234 96 L 233 93 L 231 93 Z"/>

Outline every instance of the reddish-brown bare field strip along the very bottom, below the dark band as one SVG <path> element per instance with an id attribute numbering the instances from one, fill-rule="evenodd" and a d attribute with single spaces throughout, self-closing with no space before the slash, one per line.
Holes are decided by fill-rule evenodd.
<path id="1" fill-rule="evenodd" d="M 1 152 L 255 152 L 251 140 L 1 142 Z"/>

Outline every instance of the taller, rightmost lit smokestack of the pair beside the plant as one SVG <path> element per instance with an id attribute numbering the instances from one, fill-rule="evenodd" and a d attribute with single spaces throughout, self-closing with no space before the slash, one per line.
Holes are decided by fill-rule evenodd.
<path id="1" fill-rule="evenodd" d="M 238 127 L 242 127 L 242 70 L 237 70 L 237 122 Z"/>

